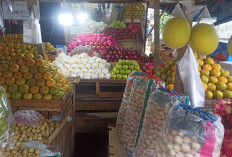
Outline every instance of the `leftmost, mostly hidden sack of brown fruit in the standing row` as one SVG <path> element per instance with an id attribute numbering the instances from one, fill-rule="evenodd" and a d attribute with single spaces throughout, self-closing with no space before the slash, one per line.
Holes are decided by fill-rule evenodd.
<path id="1" fill-rule="evenodd" d="M 117 122 L 116 122 L 116 129 L 117 129 L 117 133 L 118 133 L 120 140 L 122 138 L 122 129 L 124 125 L 124 119 L 128 111 L 127 109 L 128 109 L 129 98 L 131 94 L 131 88 L 133 86 L 133 82 L 134 82 L 134 79 L 136 78 L 136 75 L 146 75 L 146 73 L 132 73 L 127 78 L 126 88 L 123 93 L 123 99 L 122 99 L 121 106 L 118 111 Z"/>

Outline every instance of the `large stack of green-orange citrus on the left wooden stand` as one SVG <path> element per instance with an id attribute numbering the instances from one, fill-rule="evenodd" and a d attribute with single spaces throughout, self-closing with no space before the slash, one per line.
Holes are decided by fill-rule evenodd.
<path id="1" fill-rule="evenodd" d="M 5 88 L 8 98 L 61 99 L 70 87 L 67 79 L 41 55 L 8 50 L 2 51 L 1 55 L 0 85 Z"/>

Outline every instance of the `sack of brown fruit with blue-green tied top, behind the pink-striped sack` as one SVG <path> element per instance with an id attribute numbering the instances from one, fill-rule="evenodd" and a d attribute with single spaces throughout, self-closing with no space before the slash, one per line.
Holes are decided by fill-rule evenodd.
<path id="1" fill-rule="evenodd" d="M 151 93 L 145 111 L 143 126 L 135 144 L 133 156 L 154 156 L 154 147 L 166 120 L 169 109 L 180 102 L 189 102 L 188 96 L 165 88 Z"/>

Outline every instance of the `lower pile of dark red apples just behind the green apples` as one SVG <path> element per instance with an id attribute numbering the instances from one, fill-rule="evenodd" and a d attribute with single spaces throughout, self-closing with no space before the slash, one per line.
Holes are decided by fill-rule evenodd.
<path id="1" fill-rule="evenodd" d="M 121 60 L 136 60 L 139 63 L 144 63 L 145 59 L 139 50 L 134 50 L 133 48 L 116 48 L 116 47 L 106 47 L 105 50 L 99 50 L 99 54 L 102 59 L 108 62 L 117 62 Z"/>

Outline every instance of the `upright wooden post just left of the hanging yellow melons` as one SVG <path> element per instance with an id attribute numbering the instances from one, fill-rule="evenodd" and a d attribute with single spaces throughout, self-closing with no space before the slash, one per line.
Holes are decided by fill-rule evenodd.
<path id="1" fill-rule="evenodd" d="M 155 61 L 155 74 L 159 72 L 159 57 L 160 57 L 160 0 L 154 2 L 154 61 Z"/>

